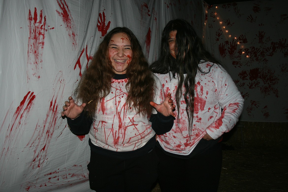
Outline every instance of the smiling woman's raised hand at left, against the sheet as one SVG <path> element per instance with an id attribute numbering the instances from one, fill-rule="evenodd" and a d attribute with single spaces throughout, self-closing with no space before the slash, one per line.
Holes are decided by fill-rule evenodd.
<path id="1" fill-rule="evenodd" d="M 63 106 L 63 111 L 61 112 L 62 117 L 68 117 L 70 119 L 76 119 L 84 110 L 86 103 L 82 103 L 82 105 L 77 105 L 72 97 L 68 98 L 68 101 L 65 101 L 65 105 Z"/>

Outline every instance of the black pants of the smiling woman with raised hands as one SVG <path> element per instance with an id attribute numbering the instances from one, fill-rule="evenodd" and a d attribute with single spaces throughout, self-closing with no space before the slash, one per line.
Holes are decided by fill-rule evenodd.
<path id="1" fill-rule="evenodd" d="M 91 151 L 88 164 L 90 188 L 97 191 L 150 192 L 157 179 L 155 149 L 141 157 L 115 159 Z"/>

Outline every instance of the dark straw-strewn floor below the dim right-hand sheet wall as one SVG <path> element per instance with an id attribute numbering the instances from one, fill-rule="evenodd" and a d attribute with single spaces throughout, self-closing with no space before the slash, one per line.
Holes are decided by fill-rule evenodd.
<path id="1" fill-rule="evenodd" d="M 159 185 L 152 190 L 160 191 Z M 224 140 L 218 192 L 230 191 L 288 191 L 287 140 Z"/>

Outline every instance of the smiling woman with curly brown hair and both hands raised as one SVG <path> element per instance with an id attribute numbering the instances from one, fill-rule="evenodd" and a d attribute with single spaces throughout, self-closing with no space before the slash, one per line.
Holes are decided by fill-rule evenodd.
<path id="1" fill-rule="evenodd" d="M 175 105 L 128 28 L 104 37 L 75 93 L 61 115 L 74 134 L 89 133 L 91 189 L 150 191 L 157 178 L 155 137 L 172 128 Z"/>

